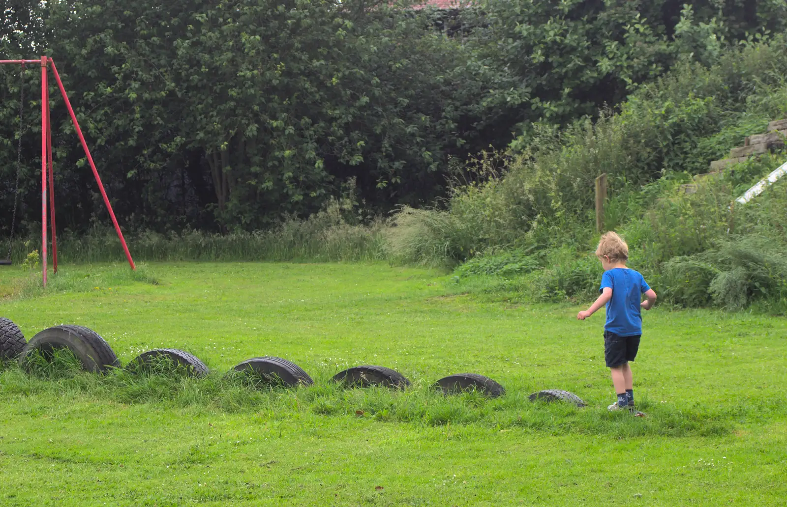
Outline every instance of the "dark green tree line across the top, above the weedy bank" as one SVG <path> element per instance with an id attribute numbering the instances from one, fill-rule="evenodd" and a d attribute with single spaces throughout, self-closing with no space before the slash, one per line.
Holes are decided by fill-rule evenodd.
<path id="1" fill-rule="evenodd" d="M 452 157 L 594 115 L 680 58 L 783 28 L 783 4 L 488 2 L 449 38 L 436 14 L 379 0 L 19 0 L 0 13 L 0 55 L 57 61 L 125 227 L 260 230 L 342 188 L 372 214 L 433 202 Z M 24 72 L 21 234 L 39 215 L 37 72 Z M 0 68 L 3 217 L 19 83 Z M 105 211 L 52 100 L 58 223 L 79 233 Z"/>

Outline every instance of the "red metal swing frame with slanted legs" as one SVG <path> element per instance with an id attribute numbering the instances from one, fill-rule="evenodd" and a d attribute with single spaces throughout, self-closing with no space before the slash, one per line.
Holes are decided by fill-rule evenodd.
<path id="1" fill-rule="evenodd" d="M 128 251 L 126 240 L 123 233 L 120 232 L 120 226 L 115 218 L 115 212 L 112 210 L 112 204 L 109 204 L 109 197 L 106 195 L 104 184 L 101 177 L 98 176 L 96 164 L 93 162 L 91 150 L 87 148 L 85 136 L 82 134 L 82 129 L 79 128 L 79 122 L 76 121 L 74 109 L 71 107 L 71 101 L 68 101 L 68 94 L 65 93 L 63 82 L 60 75 L 57 73 L 57 67 L 54 61 L 49 57 L 41 57 L 39 60 L 0 60 L 0 64 L 40 64 L 41 65 L 41 261 L 42 261 L 42 281 L 46 287 L 46 185 L 49 183 L 49 211 L 50 222 L 52 224 L 52 263 L 54 264 L 54 273 L 57 273 L 57 234 L 55 233 L 55 220 L 54 220 L 54 173 L 52 170 L 52 126 L 50 124 L 50 108 L 49 108 L 49 83 L 47 82 L 48 69 L 52 68 L 54 79 L 57 81 L 57 87 L 60 88 L 60 94 L 65 101 L 65 107 L 68 108 L 68 114 L 71 116 L 71 121 L 74 123 L 76 135 L 79 136 L 79 141 L 82 143 L 82 149 L 85 150 L 87 162 L 91 164 L 93 175 L 98 183 L 98 189 L 101 190 L 101 195 L 104 197 L 104 204 L 109 211 L 109 216 L 112 217 L 112 223 L 115 226 L 117 237 L 120 239 L 120 244 L 123 245 L 123 250 L 126 252 L 126 259 L 128 265 L 132 270 L 136 270 L 134 259 L 131 259 L 131 252 Z"/>

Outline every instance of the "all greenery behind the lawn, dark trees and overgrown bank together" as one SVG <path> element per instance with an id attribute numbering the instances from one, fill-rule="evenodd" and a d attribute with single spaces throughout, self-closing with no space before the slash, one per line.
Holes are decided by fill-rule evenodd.
<path id="1" fill-rule="evenodd" d="M 600 274 L 589 189 L 605 172 L 605 228 L 624 233 L 632 265 L 667 301 L 787 308 L 781 185 L 730 207 L 785 156 L 693 182 L 787 116 L 784 0 L 453 11 L 84 0 L 2 12 L 3 54 L 59 62 L 139 258 L 466 263 L 457 290 L 585 299 Z M 19 71 L 0 68 L 4 216 Z M 24 70 L 15 259 L 39 227 L 36 72 Z M 59 105 L 63 258 L 115 259 Z M 689 182 L 696 193 L 682 191 Z"/>

